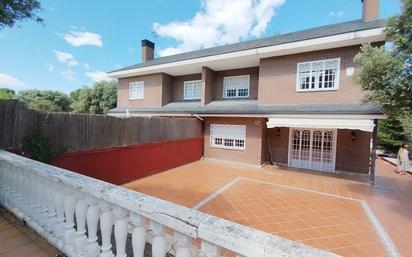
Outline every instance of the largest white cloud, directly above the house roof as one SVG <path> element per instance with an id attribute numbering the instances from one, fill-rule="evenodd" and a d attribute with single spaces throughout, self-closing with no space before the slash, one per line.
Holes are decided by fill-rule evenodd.
<path id="1" fill-rule="evenodd" d="M 201 10 L 187 21 L 155 22 L 153 29 L 162 37 L 174 38 L 177 47 L 160 51 L 160 56 L 239 42 L 261 36 L 275 8 L 286 0 L 203 0 Z"/>

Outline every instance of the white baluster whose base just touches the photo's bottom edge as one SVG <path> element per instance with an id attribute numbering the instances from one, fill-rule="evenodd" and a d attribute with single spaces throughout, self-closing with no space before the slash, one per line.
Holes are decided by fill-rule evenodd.
<path id="1" fill-rule="evenodd" d="M 93 197 L 88 197 L 87 202 L 89 205 L 89 208 L 87 208 L 86 213 L 88 238 L 85 256 L 98 257 L 100 254 L 99 244 L 97 243 L 97 224 L 99 222 L 99 207 L 97 206 L 97 200 Z"/>

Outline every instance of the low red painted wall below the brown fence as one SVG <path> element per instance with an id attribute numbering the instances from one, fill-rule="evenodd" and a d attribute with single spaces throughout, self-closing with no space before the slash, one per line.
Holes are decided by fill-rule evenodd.
<path id="1" fill-rule="evenodd" d="M 53 165 L 116 185 L 199 160 L 202 138 L 65 153 Z"/>

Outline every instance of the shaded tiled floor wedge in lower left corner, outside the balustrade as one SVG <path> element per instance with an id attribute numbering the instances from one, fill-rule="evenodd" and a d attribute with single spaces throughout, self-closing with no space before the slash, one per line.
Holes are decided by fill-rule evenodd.
<path id="1" fill-rule="evenodd" d="M 0 206 L 0 257 L 51 257 L 59 251 Z"/>

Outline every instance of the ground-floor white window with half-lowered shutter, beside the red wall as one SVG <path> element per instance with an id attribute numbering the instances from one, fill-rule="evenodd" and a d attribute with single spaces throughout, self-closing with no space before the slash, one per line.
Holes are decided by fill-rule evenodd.
<path id="1" fill-rule="evenodd" d="M 245 145 L 246 125 L 211 124 L 211 147 L 244 150 Z"/>

